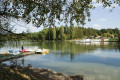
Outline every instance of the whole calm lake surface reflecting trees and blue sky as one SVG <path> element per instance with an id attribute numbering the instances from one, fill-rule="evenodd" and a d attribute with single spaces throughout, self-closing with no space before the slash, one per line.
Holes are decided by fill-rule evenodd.
<path id="1" fill-rule="evenodd" d="M 4 50 L 19 50 L 18 44 L 5 44 Z M 120 44 L 115 42 L 79 44 L 74 42 L 25 42 L 25 48 L 47 48 L 46 55 L 29 55 L 7 61 L 9 65 L 49 68 L 67 75 L 84 75 L 86 80 L 120 80 Z"/>

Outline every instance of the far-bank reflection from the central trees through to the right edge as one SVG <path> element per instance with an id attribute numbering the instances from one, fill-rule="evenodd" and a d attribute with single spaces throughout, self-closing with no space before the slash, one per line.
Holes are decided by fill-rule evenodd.
<path id="1" fill-rule="evenodd" d="M 44 43 L 44 44 L 43 44 Z M 45 47 L 52 50 L 52 53 L 54 55 L 61 54 L 62 57 L 66 55 L 70 55 L 71 61 L 74 59 L 77 55 L 83 55 L 83 54 L 90 54 L 95 53 L 95 51 L 101 49 L 101 50 L 115 50 L 116 52 L 120 50 L 118 43 L 108 43 L 108 42 L 102 42 L 98 44 L 75 44 L 71 42 L 43 42 L 40 43 L 40 47 Z"/>

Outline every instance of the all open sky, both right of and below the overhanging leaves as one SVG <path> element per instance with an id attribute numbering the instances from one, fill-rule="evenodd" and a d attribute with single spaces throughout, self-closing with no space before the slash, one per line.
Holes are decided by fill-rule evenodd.
<path id="1" fill-rule="evenodd" d="M 96 0 L 93 0 L 93 3 Z M 103 28 L 119 28 L 120 29 L 120 7 L 116 4 L 113 4 L 112 6 L 115 6 L 114 9 L 112 9 L 112 12 L 110 12 L 111 7 L 103 8 L 102 3 L 94 3 L 94 6 L 96 7 L 93 10 L 90 10 L 91 12 L 91 21 L 88 22 L 87 20 L 86 25 L 84 27 L 92 27 L 95 29 L 103 29 Z M 16 28 L 16 33 L 26 32 L 27 29 L 29 29 L 30 32 L 39 32 L 43 29 L 42 27 L 36 28 L 32 25 L 32 22 L 29 24 L 24 23 L 22 20 L 15 20 L 16 23 L 22 25 L 17 25 L 15 23 L 12 23 Z M 61 25 L 64 25 L 64 23 L 60 23 Z M 56 24 L 57 25 L 57 24 Z M 24 27 L 25 26 L 25 27 Z M 76 26 L 76 24 L 75 24 Z"/>

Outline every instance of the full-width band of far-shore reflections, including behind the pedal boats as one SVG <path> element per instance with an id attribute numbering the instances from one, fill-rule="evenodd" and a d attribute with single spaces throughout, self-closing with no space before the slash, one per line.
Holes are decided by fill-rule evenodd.
<path id="1" fill-rule="evenodd" d="M 10 43 L 10 42 L 9 42 Z M 74 43 L 74 42 L 67 42 L 67 41 L 44 41 L 44 42 L 25 42 L 25 48 L 46 48 L 50 49 L 51 53 L 54 55 L 61 55 L 62 57 L 70 55 L 71 61 L 74 60 L 75 56 L 83 55 L 83 54 L 96 54 L 95 51 L 106 50 L 106 51 L 113 51 L 115 50 L 120 51 L 120 43 L 118 42 L 98 42 L 98 43 Z M 21 42 L 16 42 L 13 44 L 5 44 L 1 47 L 0 52 L 4 50 L 21 49 Z"/>

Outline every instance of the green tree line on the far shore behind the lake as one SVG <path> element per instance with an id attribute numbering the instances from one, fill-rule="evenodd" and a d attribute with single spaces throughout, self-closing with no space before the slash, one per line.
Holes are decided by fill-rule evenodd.
<path id="1" fill-rule="evenodd" d="M 36 33 L 26 33 L 27 39 L 30 40 L 71 40 L 83 38 L 119 38 L 120 30 L 115 29 L 101 29 L 75 27 L 49 27 Z"/>

